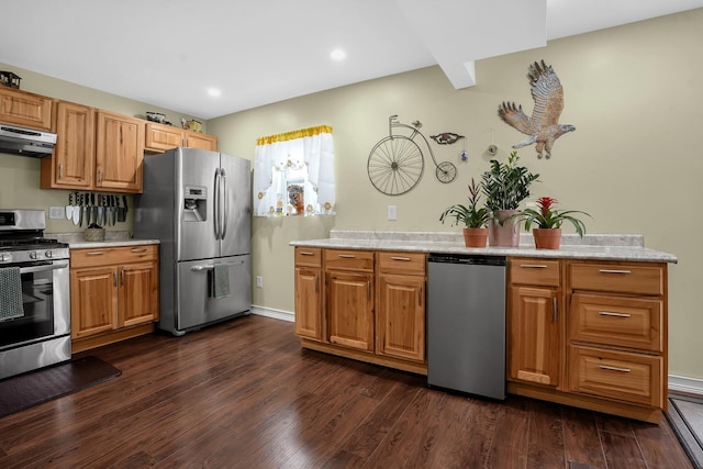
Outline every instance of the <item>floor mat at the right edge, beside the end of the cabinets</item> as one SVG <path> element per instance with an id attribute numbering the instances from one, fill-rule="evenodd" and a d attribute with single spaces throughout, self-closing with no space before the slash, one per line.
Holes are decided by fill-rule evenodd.
<path id="1" fill-rule="evenodd" d="M 695 468 L 703 468 L 703 399 L 669 394 L 667 418 Z"/>

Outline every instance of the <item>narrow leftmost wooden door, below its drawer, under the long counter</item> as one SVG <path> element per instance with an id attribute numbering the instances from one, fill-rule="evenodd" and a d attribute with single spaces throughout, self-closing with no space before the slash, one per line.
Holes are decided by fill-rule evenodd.
<path id="1" fill-rule="evenodd" d="M 295 334 L 322 339 L 321 270 L 295 268 Z"/>

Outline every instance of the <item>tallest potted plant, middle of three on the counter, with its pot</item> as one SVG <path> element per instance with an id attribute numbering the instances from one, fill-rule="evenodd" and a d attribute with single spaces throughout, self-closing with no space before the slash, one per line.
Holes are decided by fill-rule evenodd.
<path id="1" fill-rule="evenodd" d="M 489 223 L 491 246 L 517 246 L 520 232 L 513 216 L 520 203 L 529 197 L 529 186 L 539 178 L 524 166 L 517 166 L 517 152 L 512 152 L 506 164 L 491 159 L 491 168 L 483 172 L 486 204 L 493 213 Z"/>

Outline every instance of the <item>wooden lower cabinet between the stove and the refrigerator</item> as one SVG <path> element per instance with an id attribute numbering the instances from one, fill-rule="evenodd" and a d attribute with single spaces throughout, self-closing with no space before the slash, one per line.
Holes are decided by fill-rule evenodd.
<path id="1" fill-rule="evenodd" d="M 154 331 L 158 321 L 158 246 L 72 249 L 72 351 Z"/>

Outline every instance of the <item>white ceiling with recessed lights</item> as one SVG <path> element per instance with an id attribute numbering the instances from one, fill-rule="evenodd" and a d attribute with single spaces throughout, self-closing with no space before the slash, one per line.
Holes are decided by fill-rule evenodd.
<path id="1" fill-rule="evenodd" d="M 212 119 L 703 7 L 703 0 L 2 0 L 0 63 Z M 346 51 L 344 62 L 330 53 Z M 222 90 L 219 98 L 208 89 Z"/>

